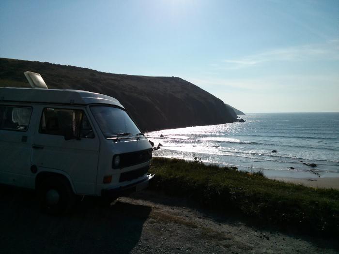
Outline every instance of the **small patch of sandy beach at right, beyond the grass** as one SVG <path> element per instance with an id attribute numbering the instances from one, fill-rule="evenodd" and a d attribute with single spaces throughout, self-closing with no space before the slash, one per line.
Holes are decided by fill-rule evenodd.
<path id="1" fill-rule="evenodd" d="M 274 177 L 271 179 L 291 182 L 294 184 L 303 184 L 308 187 L 314 188 L 326 188 L 326 189 L 337 189 L 339 190 L 339 178 L 279 178 Z"/>

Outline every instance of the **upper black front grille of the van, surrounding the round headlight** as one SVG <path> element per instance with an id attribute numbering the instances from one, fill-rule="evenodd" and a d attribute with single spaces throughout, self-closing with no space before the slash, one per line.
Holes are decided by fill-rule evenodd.
<path id="1" fill-rule="evenodd" d="M 112 167 L 113 168 L 123 168 L 128 166 L 137 165 L 140 163 L 148 162 L 152 159 L 152 148 L 136 151 L 136 152 L 128 152 L 128 153 L 122 153 L 122 154 L 116 154 L 113 157 L 112 161 Z M 118 167 L 114 166 L 114 159 L 116 156 L 120 156 L 120 164 Z"/>

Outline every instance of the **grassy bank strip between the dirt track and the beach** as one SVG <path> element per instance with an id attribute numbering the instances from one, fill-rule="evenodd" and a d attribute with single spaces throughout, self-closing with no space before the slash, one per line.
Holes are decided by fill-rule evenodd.
<path id="1" fill-rule="evenodd" d="M 267 179 L 260 173 L 199 161 L 153 158 L 150 188 L 187 196 L 201 205 L 235 211 L 259 223 L 315 235 L 339 233 L 339 191 Z"/>

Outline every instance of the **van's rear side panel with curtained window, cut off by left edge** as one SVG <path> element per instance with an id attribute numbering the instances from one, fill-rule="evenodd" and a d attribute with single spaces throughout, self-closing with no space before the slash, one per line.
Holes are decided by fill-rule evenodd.
<path id="1" fill-rule="evenodd" d="M 29 106 L 0 105 L 0 183 L 34 188 L 32 112 Z"/>

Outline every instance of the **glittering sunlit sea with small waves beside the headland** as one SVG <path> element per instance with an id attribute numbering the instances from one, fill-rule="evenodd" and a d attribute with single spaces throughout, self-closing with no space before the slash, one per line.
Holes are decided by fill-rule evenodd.
<path id="1" fill-rule="evenodd" d="M 241 117 L 246 122 L 168 129 L 146 136 L 154 146 L 162 145 L 153 156 L 190 161 L 196 157 L 203 163 L 262 171 L 270 178 L 339 177 L 339 112 Z"/>

